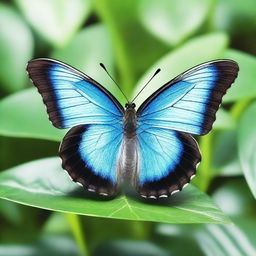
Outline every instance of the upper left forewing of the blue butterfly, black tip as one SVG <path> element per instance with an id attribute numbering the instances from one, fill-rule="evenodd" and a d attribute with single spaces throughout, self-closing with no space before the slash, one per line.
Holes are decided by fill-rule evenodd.
<path id="1" fill-rule="evenodd" d="M 122 120 L 124 110 L 114 96 L 71 66 L 52 59 L 35 59 L 28 63 L 27 71 L 55 127 L 113 124 Z"/>

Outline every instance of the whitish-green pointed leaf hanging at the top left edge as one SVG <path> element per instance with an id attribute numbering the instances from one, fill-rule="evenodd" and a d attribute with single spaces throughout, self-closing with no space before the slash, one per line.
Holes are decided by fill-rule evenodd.
<path id="1" fill-rule="evenodd" d="M 50 43 L 65 45 L 82 26 L 89 0 L 15 0 L 31 26 Z"/>

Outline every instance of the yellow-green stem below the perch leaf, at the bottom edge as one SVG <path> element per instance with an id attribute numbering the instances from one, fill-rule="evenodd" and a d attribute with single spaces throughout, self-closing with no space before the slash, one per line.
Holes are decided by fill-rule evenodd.
<path id="1" fill-rule="evenodd" d="M 86 245 L 85 235 L 81 228 L 80 217 L 72 213 L 65 213 L 65 216 L 70 225 L 70 228 L 72 230 L 76 243 L 79 246 L 81 256 L 89 256 L 90 254 L 89 254 L 88 247 Z"/>

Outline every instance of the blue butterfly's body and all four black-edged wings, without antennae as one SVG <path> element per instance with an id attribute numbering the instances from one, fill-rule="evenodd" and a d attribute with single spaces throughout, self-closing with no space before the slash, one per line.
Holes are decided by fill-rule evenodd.
<path id="1" fill-rule="evenodd" d="M 201 154 L 223 95 L 237 77 L 231 60 L 200 64 L 170 80 L 136 110 L 102 85 L 53 59 L 34 59 L 27 72 L 59 129 L 71 128 L 59 149 L 62 167 L 88 191 L 115 195 L 123 181 L 144 198 L 181 191 Z"/>

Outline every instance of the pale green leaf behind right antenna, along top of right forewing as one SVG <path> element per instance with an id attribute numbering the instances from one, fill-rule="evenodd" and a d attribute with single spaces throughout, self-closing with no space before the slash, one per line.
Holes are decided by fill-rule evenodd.
<path id="1" fill-rule="evenodd" d="M 135 102 L 140 105 L 159 87 L 187 69 L 202 62 L 219 58 L 227 47 L 227 43 L 228 39 L 225 34 L 213 33 L 192 39 L 177 50 L 171 51 L 157 61 L 139 80 L 134 95 L 146 84 L 154 72 L 161 68 L 161 72 L 143 90 Z M 209 51 L 209 49 L 211 50 Z"/>

